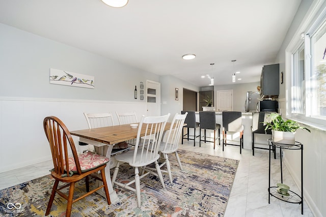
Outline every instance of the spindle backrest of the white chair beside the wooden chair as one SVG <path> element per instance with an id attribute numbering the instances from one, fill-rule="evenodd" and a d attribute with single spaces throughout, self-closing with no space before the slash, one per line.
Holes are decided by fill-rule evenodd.
<path id="1" fill-rule="evenodd" d="M 142 116 L 130 166 L 146 166 L 159 158 L 159 146 L 169 116 L 170 113 L 158 117 Z"/>

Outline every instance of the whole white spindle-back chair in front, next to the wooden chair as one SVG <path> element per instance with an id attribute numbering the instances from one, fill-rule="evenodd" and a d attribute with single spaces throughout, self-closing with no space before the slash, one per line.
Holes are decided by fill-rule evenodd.
<path id="1" fill-rule="evenodd" d="M 162 135 L 164 133 L 164 129 L 170 113 L 164 116 L 158 117 L 145 117 L 143 116 L 138 128 L 136 144 L 133 150 L 126 151 L 124 153 L 118 154 L 115 156 L 115 159 L 118 161 L 117 166 L 115 167 L 112 183 L 116 184 L 119 187 L 125 188 L 132 192 L 135 192 L 137 195 L 137 205 L 138 208 L 141 208 L 141 185 L 140 179 L 147 176 L 150 173 L 154 173 L 153 171 L 146 171 L 140 174 L 140 170 L 154 163 L 157 175 L 161 181 L 162 187 L 165 188 L 164 180 L 162 177 L 162 173 L 160 171 L 160 167 L 158 165 L 159 159 L 159 146 L 161 143 Z M 145 129 L 145 135 L 141 140 L 142 129 Z M 148 142 L 151 141 L 151 142 Z M 147 144 L 147 145 L 144 145 Z M 127 163 L 129 166 L 134 168 L 134 176 L 133 180 L 128 183 L 117 181 L 117 175 L 120 169 L 120 165 Z M 132 174 L 133 175 L 133 174 Z M 155 174 L 156 175 L 156 174 Z M 135 183 L 135 188 L 131 187 L 131 184 Z"/>

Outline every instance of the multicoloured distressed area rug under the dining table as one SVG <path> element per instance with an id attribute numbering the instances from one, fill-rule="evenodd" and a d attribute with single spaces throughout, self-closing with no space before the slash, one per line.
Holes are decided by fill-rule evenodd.
<path id="1" fill-rule="evenodd" d="M 133 192 L 115 186 L 118 202 L 107 205 L 103 197 L 92 194 L 72 204 L 71 216 L 223 216 L 239 162 L 193 151 L 178 152 L 183 171 L 171 155 L 172 184 L 168 174 L 164 174 L 165 189 L 155 176 L 141 179 L 141 208 L 137 208 Z M 124 164 L 118 179 L 128 180 L 132 174 L 133 169 Z M 46 175 L 1 190 L 0 215 L 44 216 L 53 183 L 54 179 Z M 75 195 L 85 189 L 85 182 L 79 181 Z M 57 194 L 48 216 L 65 216 L 66 204 Z"/>

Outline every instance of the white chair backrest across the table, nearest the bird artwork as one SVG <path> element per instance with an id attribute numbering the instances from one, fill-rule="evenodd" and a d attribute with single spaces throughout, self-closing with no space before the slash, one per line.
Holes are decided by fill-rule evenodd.
<path id="1" fill-rule="evenodd" d="M 89 129 L 114 126 L 111 112 L 109 113 L 84 112 L 84 115 L 86 117 Z"/>

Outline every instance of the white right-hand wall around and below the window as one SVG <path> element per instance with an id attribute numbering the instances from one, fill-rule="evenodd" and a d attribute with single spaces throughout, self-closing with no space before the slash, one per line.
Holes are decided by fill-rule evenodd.
<path id="1" fill-rule="evenodd" d="M 309 14 L 313 12 L 316 4 L 323 4 L 321 8 L 326 7 L 324 0 L 304 0 L 302 1 L 294 20 L 288 30 L 285 40 L 278 53 L 276 63 L 280 63 L 280 72 L 284 72 L 284 83 L 280 84 L 280 108 L 282 115 L 291 118 L 291 48 L 298 46 L 297 39 L 300 40 L 301 33 L 304 32 L 305 26 L 312 19 Z M 316 11 L 315 11 L 316 12 Z M 317 12 L 318 14 L 318 12 Z M 298 130 L 295 140 L 304 144 L 304 198 L 315 216 L 326 216 L 326 132 L 317 127 L 307 126 L 311 130 L 308 133 Z M 285 151 L 284 162 L 289 169 L 298 187 L 301 186 L 301 167 L 300 151 Z M 301 189 L 301 187 L 299 188 Z M 304 203 L 304 206 L 306 204 Z"/>

